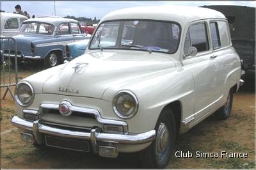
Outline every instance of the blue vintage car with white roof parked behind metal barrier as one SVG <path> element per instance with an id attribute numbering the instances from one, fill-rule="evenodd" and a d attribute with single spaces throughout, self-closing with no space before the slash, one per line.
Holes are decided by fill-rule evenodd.
<path id="1" fill-rule="evenodd" d="M 88 39 L 77 20 L 59 17 L 28 19 L 22 23 L 17 42 L 18 61 L 43 60 L 47 67 L 56 66 L 67 58 L 65 45 Z M 3 42 L 4 56 L 14 56 L 14 45 Z"/>

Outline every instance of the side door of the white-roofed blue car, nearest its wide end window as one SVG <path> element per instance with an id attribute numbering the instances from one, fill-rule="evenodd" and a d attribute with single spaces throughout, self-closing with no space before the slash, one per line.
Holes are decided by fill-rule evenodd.
<path id="1" fill-rule="evenodd" d="M 74 36 L 71 34 L 70 24 L 63 22 L 58 26 L 56 35 L 58 45 L 65 47 L 68 43 L 74 42 Z"/>

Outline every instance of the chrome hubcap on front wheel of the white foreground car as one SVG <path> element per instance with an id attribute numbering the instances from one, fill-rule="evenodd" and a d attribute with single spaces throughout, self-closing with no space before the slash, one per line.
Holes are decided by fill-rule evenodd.
<path id="1" fill-rule="evenodd" d="M 159 125 L 156 137 L 156 150 L 157 153 L 163 153 L 169 143 L 169 132 L 166 125 L 162 122 Z"/>

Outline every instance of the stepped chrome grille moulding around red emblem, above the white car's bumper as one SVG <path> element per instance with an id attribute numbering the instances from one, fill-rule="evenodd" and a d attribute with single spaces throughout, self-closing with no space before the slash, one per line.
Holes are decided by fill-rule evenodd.
<path id="1" fill-rule="evenodd" d="M 65 102 L 67 102 L 67 101 L 65 101 Z M 44 108 L 44 109 L 59 109 L 59 104 L 41 104 L 40 107 Z M 125 121 L 103 119 L 103 118 L 101 118 L 99 111 L 97 111 L 96 109 L 90 109 L 90 108 L 86 108 L 86 107 L 77 107 L 72 104 L 70 104 L 69 109 L 70 109 L 70 111 L 86 112 L 88 114 L 94 114 L 96 120 L 99 123 L 104 124 L 104 125 L 119 125 L 119 126 L 124 127 L 124 133 L 127 133 L 127 131 L 128 131 L 128 125 Z"/>

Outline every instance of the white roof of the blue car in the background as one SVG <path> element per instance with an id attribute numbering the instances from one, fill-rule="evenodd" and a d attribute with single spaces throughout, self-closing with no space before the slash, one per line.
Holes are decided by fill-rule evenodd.
<path id="1" fill-rule="evenodd" d="M 61 17 L 40 17 L 40 18 L 25 20 L 23 23 L 26 23 L 26 22 L 46 22 L 49 24 L 58 25 L 61 22 L 77 22 L 77 20 L 66 19 Z"/>

